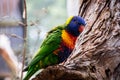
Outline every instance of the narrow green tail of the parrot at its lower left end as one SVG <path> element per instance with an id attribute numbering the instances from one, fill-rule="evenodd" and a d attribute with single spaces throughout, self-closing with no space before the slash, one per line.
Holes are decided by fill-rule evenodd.
<path id="1" fill-rule="evenodd" d="M 31 67 L 28 69 L 29 70 L 23 80 L 29 80 L 30 77 L 33 76 L 33 74 L 36 73 L 40 68 L 39 67 Z"/>

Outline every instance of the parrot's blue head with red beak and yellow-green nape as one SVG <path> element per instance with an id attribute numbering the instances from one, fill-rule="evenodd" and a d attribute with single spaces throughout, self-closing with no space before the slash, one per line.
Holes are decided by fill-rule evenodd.
<path id="1" fill-rule="evenodd" d="M 80 16 L 72 16 L 66 21 L 66 30 L 73 36 L 78 36 L 86 25 L 85 20 Z"/>

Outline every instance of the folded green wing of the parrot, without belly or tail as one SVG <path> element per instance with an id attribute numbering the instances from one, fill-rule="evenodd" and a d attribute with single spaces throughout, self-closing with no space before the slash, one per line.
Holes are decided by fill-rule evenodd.
<path id="1" fill-rule="evenodd" d="M 44 59 L 47 55 L 52 53 L 60 46 L 61 34 L 64 26 L 58 26 L 51 30 L 44 42 L 42 43 L 40 49 L 36 53 L 35 57 L 32 59 L 29 66 L 37 64 L 40 60 Z"/>

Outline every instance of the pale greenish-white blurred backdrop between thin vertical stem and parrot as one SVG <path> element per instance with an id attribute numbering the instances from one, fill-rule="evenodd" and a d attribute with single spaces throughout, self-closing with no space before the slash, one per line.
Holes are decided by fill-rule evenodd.
<path id="1" fill-rule="evenodd" d="M 64 24 L 67 18 L 66 2 L 66 0 L 27 0 L 28 61 L 39 48 L 46 33 L 53 27 Z"/>

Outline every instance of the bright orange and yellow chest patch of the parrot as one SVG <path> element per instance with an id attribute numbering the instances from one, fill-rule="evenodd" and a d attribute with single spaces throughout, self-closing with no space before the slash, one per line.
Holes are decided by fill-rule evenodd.
<path id="1" fill-rule="evenodd" d="M 77 37 L 72 36 L 65 30 L 62 31 L 62 41 L 66 47 L 73 49 L 75 46 L 76 39 L 77 39 Z"/>

